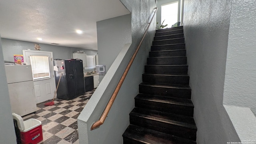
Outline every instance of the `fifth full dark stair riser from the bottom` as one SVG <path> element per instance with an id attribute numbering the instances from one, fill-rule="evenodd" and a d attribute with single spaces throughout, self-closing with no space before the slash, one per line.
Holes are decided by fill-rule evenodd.
<path id="1" fill-rule="evenodd" d="M 180 73 L 187 74 L 188 66 L 150 66 L 145 65 L 145 73 L 149 74 L 172 74 L 172 73 Z"/>

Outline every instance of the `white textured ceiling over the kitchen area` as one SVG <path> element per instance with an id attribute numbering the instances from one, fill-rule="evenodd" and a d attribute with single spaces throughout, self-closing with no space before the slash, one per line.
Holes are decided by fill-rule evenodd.
<path id="1" fill-rule="evenodd" d="M 0 0 L 0 35 L 97 50 L 96 22 L 129 13 L 119 0 Z"/>

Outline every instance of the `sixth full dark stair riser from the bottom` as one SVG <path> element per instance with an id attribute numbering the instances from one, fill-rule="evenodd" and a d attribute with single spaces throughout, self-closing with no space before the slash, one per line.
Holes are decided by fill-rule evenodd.
<path id="1" fill-rule="evenodd" d="M 148 65 L 186 65 L 187 57 L 148 58 Z"/>

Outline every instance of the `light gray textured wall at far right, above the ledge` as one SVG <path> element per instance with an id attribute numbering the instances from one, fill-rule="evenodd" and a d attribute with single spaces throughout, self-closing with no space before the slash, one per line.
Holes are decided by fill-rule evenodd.
<path id="1" fill-rule="evenodd" d="M 224 104 L 256 114 L 256 1 L 232 0 Z"/>

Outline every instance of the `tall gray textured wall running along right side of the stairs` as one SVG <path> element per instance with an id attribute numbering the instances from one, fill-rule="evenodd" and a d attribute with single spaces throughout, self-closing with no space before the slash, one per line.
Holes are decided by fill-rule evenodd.
<path id="1" fill-rule="evenodd" d="M 231 0 L 184 0 L 184 34 L 198 144 L 240 141 L 223 106 L 231 4 Z"/>

